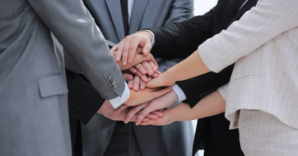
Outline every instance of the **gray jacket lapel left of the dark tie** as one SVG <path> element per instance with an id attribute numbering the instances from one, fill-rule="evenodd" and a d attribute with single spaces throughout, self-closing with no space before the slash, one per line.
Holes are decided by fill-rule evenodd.
<path id="1" fill-rule="evenodd" d="M 105 0 L 117 32 L 119 41 L 125 38 L 120 0 Z M 142 1 L 142 0 L 141 0 Z"/>

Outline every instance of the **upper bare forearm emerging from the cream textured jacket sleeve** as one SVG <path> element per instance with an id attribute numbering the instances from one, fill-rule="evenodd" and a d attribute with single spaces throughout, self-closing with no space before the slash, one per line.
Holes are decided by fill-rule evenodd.
<path id="1" fill-rule="evenodd" d="M 164 72 L 166 80 L 170 82 L 190 79 L 209 72 L 198 51 Z"/>

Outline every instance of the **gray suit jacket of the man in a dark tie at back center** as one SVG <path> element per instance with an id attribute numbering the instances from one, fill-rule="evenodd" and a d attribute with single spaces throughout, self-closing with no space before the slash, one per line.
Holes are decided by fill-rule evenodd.
<path id="1" fill-rule="evenodd" d="M 107 40 L 118 43 L 125 38 L 119 0 L 84 2 Z M 148 27 L 161 27 L 186 20 L 192 16 L 193 0 L 134 0 L 129 34 Z M 167 69 L 173 66 L 174 62 L 163 61 L 159 62 L 159 65 L 160 68 Z M 115 123 L 101 114 L 95 114 L 87 125 L 81 125 L 84 156 L 104 154 Z M 175 122 L 166 126 L 134 125 L 143 156 L 191 156 L 194 139 L 192 128 L 191 121 Z"/>

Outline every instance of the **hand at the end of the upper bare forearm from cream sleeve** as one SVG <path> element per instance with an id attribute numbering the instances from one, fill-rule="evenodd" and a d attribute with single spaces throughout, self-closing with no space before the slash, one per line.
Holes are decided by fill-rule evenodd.
<path id="1" fill-rule="evenodd" d="M 170 78 L 168 75 L 166 75 L 166 72 L 161 73 L 157 78 L 153 78 L 148 83 L 146 83 L 147 88 L 155 88 L 155 87 L 172 87 L 174 86 L 176 82 L 170 81 Z"/>

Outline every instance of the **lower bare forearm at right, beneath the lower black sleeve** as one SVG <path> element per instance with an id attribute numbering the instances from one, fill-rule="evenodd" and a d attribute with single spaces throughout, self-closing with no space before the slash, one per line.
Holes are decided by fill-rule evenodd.
<path id="1" fill-rule="evenodd" d="M 170 109 L 174 121 L 189 121 L 224 112 L 225 102 L 218 91 L 203 98 L 193 108 L 189 104 L 178 104 Z"/>

